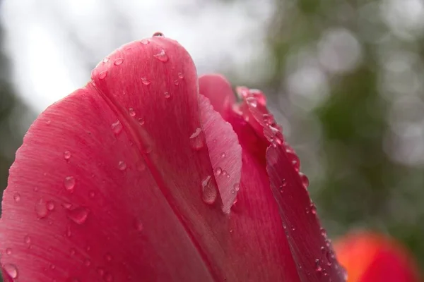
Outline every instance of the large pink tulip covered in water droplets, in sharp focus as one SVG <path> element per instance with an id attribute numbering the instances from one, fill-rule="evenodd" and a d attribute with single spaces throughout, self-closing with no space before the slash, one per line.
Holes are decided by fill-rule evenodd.
<path id="1" fill-rule="evenodd" d="M 237 94 L 160 33 L 107 56 L 16 153 L 6 281 L 343 281 L 264 94 Z"/>

